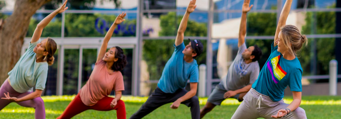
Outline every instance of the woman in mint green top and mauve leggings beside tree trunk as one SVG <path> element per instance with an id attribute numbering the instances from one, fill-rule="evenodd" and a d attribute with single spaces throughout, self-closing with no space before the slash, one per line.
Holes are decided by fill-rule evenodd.
<path id="1" fill-rule="evenodd" d="M 65 8 L 66 2 L 67 0 L 37 25 L 28 49 L 8 73 L 9 77 L 0 88 L 0 110 L 11 102 L 16 102 L 24 107 L 35 108 L 35 119 L 45 119 L 44 101 L 40 96 L 45 89 L 48 65 L 54 62 L 57 44 L 50 38 L 41 40 L 40 36 L 44 27 L 58 13 L 68 9 Z"/>

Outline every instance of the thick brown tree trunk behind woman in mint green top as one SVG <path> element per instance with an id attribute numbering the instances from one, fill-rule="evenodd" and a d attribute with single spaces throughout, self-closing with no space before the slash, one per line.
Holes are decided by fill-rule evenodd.
<path id="1" fill-rule="evenodd" d="M 31 17 L 43 4 L 51 0 L 16 0 L 14 11 L 0 29 L 0 84 L 8 77 L 20 58 Z"/>

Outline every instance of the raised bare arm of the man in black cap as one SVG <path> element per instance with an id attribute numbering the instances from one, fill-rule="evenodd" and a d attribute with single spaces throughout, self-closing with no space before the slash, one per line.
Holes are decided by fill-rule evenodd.
<path id="1" fill-rule="evenodd" d="M 188 18 L 190 16 L 190 13 L 192 13 L 196 8 L 195 1 L 196 0 L 191 0 L 190 4 L 187 7 L 185 15 L 183 15 L 183 18 L 179 25 L 178 34 L 176 35 L 175 46 L 178 46 L 183 42 L 183 36 L 184 32 L 186 31 Z"/>

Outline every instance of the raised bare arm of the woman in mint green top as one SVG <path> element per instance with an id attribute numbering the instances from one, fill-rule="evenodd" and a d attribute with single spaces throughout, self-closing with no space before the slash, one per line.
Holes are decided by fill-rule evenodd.
<path id="1" fill-rule="evenodd" d="M 62 6 L 60 6 L 57 10 L 53 11 L 51 14 L 47 15 L 40 23 L 37 25 L 37 27 L 34 30 L 34 33 L 32 35 L 31 43 L 36 42 L 40 39 L 40 36 L 42 35 L 43 29 L 50 23 L 50 21 L 59 13 L 64 12 L 68 9 L 68 7 L 65 8 L 66 3 L 68 0 L 65 0 Z"/>

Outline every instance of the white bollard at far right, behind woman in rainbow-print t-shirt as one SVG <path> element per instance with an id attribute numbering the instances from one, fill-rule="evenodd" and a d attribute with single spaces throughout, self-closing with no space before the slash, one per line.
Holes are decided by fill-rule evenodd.
<path id="1" fill-rule="evenodd" d="M 338 74 L 338 61 L 330 60 L 329 62 L 329 95 L 337 95 L 337 74 Z"/>

